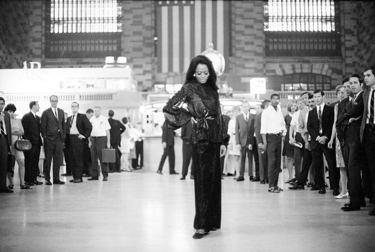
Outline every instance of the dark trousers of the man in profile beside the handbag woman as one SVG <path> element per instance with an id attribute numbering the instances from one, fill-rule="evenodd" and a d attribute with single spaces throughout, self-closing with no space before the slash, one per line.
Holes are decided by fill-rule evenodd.
<path id="1" fill-rule="evenodd" d="M 31 145 L 31 149 L 23 152 L 24 155 L 24 181 L 33 182 L 39 174 L 40 145 Z M 44 165 L 45 170 L 45 165 Z"/>

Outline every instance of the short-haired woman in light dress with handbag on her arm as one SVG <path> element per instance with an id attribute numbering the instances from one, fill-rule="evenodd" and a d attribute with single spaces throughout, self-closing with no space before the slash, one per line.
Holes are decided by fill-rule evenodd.
<path id="1" fill-rule="evenodd" d="M 23 127 L 20 119 L 15 118 L 17 115 L 14 114 L 16 108 L 14 104 L 9 103 L 4 108 L 4 111 L 10 115 L 10 126 L 11 126 L 11 142 L 14 143 L 19 136 L 23 136 Z M 15 161 L 18 164 L 18 176 L 19 176 L 19 187 L 20 189 L 32 189 L 29 186 L 24 184 L 24 156 L 23 152 L 17 151 L 14 147 L 11 149 L 11 154 L 15 156 Z M 7 173 L 7 177 L 9 180 L 8 189 L 13 189 L 14 182 L 13 182 L 13 175 L 14 173 Z"/>

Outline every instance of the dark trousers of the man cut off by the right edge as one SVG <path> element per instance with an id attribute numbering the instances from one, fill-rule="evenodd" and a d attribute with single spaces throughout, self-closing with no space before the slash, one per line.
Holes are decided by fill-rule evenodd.
<path id="1" fill-rule="evenodd" d="M 375 195 L 375 128 L 366 124 L 363 132 L 363 146 L 367 157 L 369 183 L 372 185 L 372 196 Z M 351 196 L 350 196 L 351 197 Z"/>

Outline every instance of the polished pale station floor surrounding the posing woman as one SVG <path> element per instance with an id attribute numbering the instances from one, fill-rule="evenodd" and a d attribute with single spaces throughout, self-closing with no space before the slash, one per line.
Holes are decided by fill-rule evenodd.
<path id="1" fill-rule="evenodd" d="M 167 165 L 167 164 L 166 164 Z M 142 169 L 0 194 L 0 252 L 374 252 L 373 205 L 222 180 L 222 226 L 193 240 L 193 180 Z M 177 172 L 180 170 L 176 169 Z M 62 171 L 61 171 L 62 172 Z M 62 177 L 66 180 L 71 177 Z"/>

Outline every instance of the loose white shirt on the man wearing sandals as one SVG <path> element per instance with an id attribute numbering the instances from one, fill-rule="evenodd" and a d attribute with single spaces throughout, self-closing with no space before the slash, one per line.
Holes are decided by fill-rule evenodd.
<path id="1" fill-rule="evenodd" d="M 261 114 L 260 134 L 277 134 L 286 132 L 285 121 L 281 109 L 277 107 L 277 112 L 273 106 L 268 106 Z"/>

